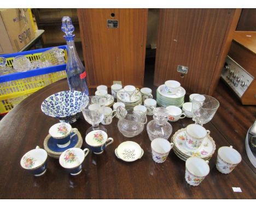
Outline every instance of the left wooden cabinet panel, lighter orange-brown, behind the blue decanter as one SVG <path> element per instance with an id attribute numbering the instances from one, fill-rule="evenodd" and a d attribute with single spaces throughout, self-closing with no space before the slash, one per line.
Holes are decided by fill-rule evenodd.
<path id="1" fill-rule="evenodd" d="M 113 81 L 143 86 L 147 14 L 147 9 L 78 9 L 89 87 L 110 87 Z M 111 19 L 119 21 L 118 28 L 107 27 Z"/>

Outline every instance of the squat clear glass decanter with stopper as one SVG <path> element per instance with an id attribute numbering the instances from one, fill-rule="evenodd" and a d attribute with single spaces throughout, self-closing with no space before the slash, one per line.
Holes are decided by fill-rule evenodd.
<path id="1" fill-rule="evenodd" d="M 153 119 L 147 125 L 150 140 L 155 138 L 168 139 L 172 133 L 172 125 L 168 123 L 168 111 L 163 107 L 155 108 Z"/>

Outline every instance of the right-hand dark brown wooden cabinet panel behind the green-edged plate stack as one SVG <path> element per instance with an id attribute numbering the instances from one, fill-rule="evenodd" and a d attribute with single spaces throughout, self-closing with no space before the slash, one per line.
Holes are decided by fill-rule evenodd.
<path id="1" fill-rule="evenodd" d="M 189 94 L 212 94 L 240 13 L 236 9 L 161 9 L 154 85 L 174 79 Z M 181 77 L 178 65 L 188 66 L 188 74 Z"/>

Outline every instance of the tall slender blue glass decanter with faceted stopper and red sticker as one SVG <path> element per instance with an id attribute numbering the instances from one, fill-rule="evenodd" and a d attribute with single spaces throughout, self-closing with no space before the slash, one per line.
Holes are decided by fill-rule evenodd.
<path id="1" fill-rule="evenodd" d="M 89 95 L 85 68 L 80 58 L 78 57 L 77 50 L 75 50 L 75 35 L 72 34 L 74 32 L 74 26 L 70 17 L 65 16 L 62 18 L 61 30 L 66 34 L 63 37 L 66 39 L 68 46 L 66 74 L 69 89 L 82 91 L 86 95 Z"/>

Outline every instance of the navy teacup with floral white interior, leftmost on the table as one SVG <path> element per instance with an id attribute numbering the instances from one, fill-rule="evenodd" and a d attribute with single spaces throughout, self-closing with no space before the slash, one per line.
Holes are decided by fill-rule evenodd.
<path id="1" fill-rule="evenodd" d="M 36 149 L 30 150 L 22 156 L 20 164 L 22 168 L 27 170 L 27 172 L 34 176 L 40 176 L 46 172 L 46 160 L 47 152 L 37 146 Z"/>

